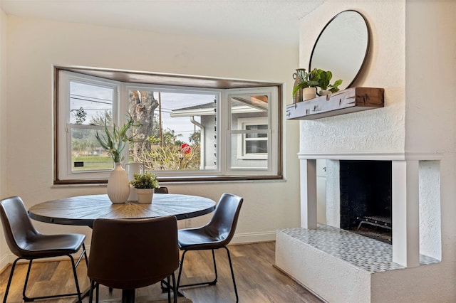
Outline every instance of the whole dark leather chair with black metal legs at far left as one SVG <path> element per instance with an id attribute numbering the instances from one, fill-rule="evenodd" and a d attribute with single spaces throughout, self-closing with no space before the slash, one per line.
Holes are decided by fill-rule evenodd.
<path id="1" fill-rule="evenodd" d="M 78 302 L 82 302 L 76 267 L 83 257 L 86 259 L 86 264 L 88 261 L 86 247 L 84 246 L 86 235 L 78 233 L 43 235 L 42 233 L 39 233 L 38 230 L 33 227 L 30 218 L 28 218 L 24 201 L 22 201 L 19 196 L 4 198 L 0 201 L 0 218 L 3 225 L 6 244 L 11 252 L 13 252 L 17 257 L 11 267 L 11 273 L 9 275 L 3 302 L 6 303 L 16 263 L 22 259 L 29 261 L 26 280 L 24 282 L 24 289 L 22 291 L 22 296 L 24 297 L 25 302 L 33 301 L 35 299 L 50 299 L 69 296 L 78 296 Z M 78 258 L 77 262 L 75 262 L 71 254 L 78 252 L 81 248 L 81 256 Z M 33 260 L 60 256 L 67 256 L 71 260 L 74 281 L 76 284 L 76 292 L 70 294 L 53 294 L 43 297 L 28 297 L 26 295 L 26 289 Z"/>

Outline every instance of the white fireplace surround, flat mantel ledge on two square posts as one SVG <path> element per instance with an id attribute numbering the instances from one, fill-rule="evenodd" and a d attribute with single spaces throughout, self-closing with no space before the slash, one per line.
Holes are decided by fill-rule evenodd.
<path id="1" fill-rule="evenodd" d="M 418 152 L 299 153 L 301 167 L 301 228 L 317 227 L 316 160 L 392 161 L 393 262 L 420 265 L 419 163 L 442 159 Z"/>

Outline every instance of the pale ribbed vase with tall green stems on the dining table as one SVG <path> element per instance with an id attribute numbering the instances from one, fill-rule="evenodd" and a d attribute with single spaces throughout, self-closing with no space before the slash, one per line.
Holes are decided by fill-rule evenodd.
<path id="1" fill-rule="evenodd" d="M 113 129 L 110 130 L 105 119 L 104 134 L 95 134 L 98 143 L 101 147 L 108 151 L 108 154 L 113 158 L 115 167 L 110 172 L 108 178 L 108 197 L 113 203 L 124 203 L 130 195 L 130 186 L 128 184 L 128 174 L 120 165 L 123 159 L 123 151 L 128 142 L 135 140 L 134 136 L 129 136 L 128 131 L 131 127 L 139 127 L 142 124 L 135 122 L 131 115 L 127 115 L 127 123 L 123 124 L 120 129 L 113 124 Z"/>

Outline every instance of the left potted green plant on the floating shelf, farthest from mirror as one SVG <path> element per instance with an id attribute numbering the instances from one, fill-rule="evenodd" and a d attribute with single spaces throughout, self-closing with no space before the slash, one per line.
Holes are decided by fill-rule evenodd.
<path id="1" fill-rule="evenodd" d="M 318 70 L 316 68 L 309 73 L 304 68 L 299 68 L 294 73 L 294 78 L 293 96 L 295 102 L 316 97 L 316 87 L 318 86 Z M 296 95 L 299 97 L 296 98 Z"/>

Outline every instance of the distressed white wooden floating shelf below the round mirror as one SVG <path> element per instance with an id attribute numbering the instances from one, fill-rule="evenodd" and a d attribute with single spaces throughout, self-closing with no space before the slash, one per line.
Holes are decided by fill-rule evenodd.
<path id="1" fill-rule="evenodd" d="M 352 87 L 332 95 L 316 97 L 286 105 L 286 119 L 314 120 L 362 110 L 373 110 L 385 104 L 385 90 L 376 87 Z"/>

